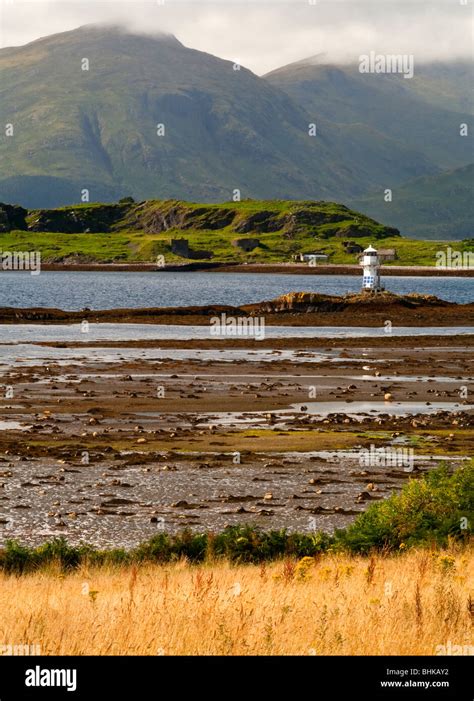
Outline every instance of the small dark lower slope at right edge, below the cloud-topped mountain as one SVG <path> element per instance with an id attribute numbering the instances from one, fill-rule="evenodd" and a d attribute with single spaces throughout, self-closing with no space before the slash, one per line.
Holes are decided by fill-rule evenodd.
<path id="1" fill-rule="evenodd" d="M 432 177 L 416 178 L 393 192 L 352 203 L 372 217 L 396 226 L 402 234 L 423 239 L 474 237 L 474 164 Z"/>

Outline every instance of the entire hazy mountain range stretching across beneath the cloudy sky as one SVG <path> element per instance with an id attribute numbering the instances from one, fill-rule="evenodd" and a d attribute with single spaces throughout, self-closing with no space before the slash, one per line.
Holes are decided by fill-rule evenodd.
<path id="1" fill-rule="evenodd" d="M 239 190 L 367 201 L 385 217 L 378 190 L 392 188 L 400 197 L 389 223 L 405 228 L 411 184 L 400 188 L 435 178 L 442 197 L 443 172 L 472 161 L 470 137 L 459 136 L 461 123 L 472 133 L 468 63 L 415 66 L 410 80 L 324 56 L 263 78 L 235 68 L 171 35 L 100 25 L 1 49 L 0 124 L 13 135 L 0 140 L 0 201 L 56 207 L 87 190 L 91 202 L 219 202 Z M 447 234 L 466 219 L 453 209 L 464 202 L 446 203 Z M 439 207 L 417 211 L 424 230 L 441 226 Z"/>

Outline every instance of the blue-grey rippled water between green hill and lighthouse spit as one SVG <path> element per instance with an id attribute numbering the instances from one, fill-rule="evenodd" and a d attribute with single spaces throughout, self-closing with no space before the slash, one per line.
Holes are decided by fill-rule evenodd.
<path id="1" fill-rule="evenodd" d="M 385 277 L 397 294 L 433 294 L 451 302 L 472 302 L 474 281 L 457 277 Z M 65 310 L 121 307 L 238 306 L 287 292 L 342 295 L 358 292 L 359 275 L 271 273 L 0 273 L 0 307 L 57 307 Z"/>

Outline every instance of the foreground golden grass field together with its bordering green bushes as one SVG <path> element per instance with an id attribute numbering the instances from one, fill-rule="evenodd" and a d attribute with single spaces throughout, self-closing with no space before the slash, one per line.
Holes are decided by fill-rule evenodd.
<path id="1" fill-rule="evenodd" d="M 334 535 L 235 526 L 163 532 L 130 552 L 8 541 L 0 646 L 43 655 L 474 654 L 473 479 L 473 462 L 440 466 Z"/>

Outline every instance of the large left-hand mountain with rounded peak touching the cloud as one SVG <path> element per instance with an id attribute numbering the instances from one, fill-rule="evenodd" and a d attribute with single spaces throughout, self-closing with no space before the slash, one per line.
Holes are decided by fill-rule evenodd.
<path id="1" fill-rule="evenodd" d="M 82 70 L 87 59 L 88 70 Z M 343 125 L 175 37 L 85 26 L 0 50 L 0 200 L 345 199 L 432 174 L 370 124 Z M 317 122 L 317 136 L 308 133 Z M 157 135 L 157 125 L 164 135 Z"/>

